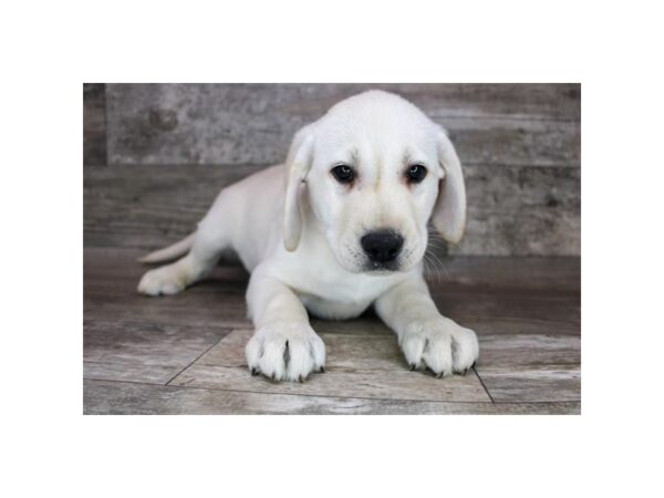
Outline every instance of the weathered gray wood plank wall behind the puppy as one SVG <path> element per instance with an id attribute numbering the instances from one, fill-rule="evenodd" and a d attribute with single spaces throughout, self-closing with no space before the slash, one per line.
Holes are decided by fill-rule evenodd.
<path id="1" fill-rule="evenodd" d="M 580 255 L 578 84 L 86 84 L 89 247 L 188 234 L 225 185 L 280 163 L 345 96 L 396 92 L 444 125 L 465 166 L 473 256 Z"/>

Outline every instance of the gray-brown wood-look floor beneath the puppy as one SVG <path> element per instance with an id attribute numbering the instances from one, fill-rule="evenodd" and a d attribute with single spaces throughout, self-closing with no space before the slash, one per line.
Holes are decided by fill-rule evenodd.
<path id="1" fill-rule="evenodd" d="M 577 414 L 580 291 L 575 258 L 453 258 L 430 283 L 440 310 L 476 330 L 466 376 L 409 372 L 394 334 L 367 314 L 313 321 L 326 373 L 304 384 L 251 376 L 243 354 L 247 274 L 219 267 L 175 297 L 135 287 L 128 249 L 86 249 L 87 414 Z"/>

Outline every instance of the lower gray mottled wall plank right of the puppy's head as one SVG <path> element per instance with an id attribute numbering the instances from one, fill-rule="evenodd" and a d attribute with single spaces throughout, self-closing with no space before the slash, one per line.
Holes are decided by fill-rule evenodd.
<path id="1" fill-rule="evenodd" d="M 466 235 L 450 253 L 579 256 L 581 170 L 467 166 Z"/>

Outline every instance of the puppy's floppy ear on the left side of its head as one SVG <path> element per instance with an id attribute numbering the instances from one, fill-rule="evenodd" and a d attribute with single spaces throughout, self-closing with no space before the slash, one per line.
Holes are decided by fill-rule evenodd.
<path id="1" fill-rule="evenodd" d="M 299 197 L 313 159 L 313 125 L 300 129 L 290 146 L 286 159 L 286 200 L 283 204 L 283 246 L 294 251 L 302 235 L 302 212 Z"/>

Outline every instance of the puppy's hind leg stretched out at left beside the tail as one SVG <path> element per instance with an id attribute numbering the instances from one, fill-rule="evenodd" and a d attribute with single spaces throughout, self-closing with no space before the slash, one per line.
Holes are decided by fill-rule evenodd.
<path id="1" fill-rule="evenodd" d="M 220 215 L 211 209 L 200 221 L 191 249 L 172 264 L 147 271 L 138 283 L 138 292 L 147 295 L 176 294 L 205 277 L 228 248 L 228 229 Z"/>

